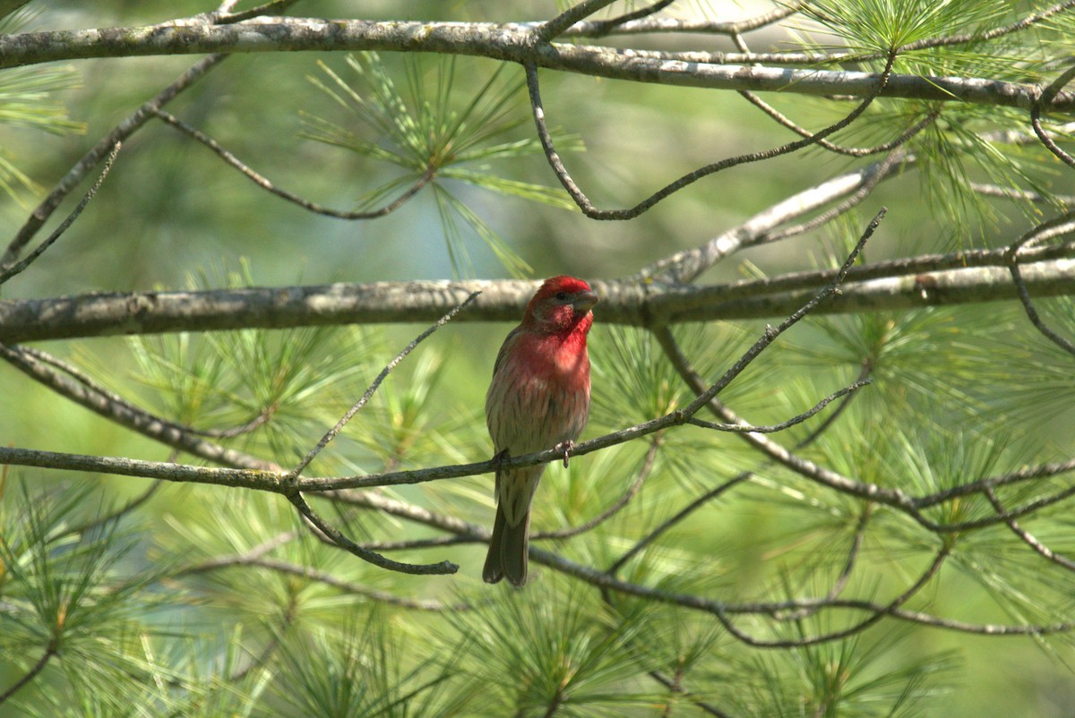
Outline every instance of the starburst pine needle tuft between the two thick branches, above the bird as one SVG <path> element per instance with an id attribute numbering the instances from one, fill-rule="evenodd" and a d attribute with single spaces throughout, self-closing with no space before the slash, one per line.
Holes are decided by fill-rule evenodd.
<path id="1" fill-rule="evenodd" d="M 528 120 L 515 101 L 521 80 L 505 81 L 503 64 L 460 106 L 464 89 L 457 72 L 456 57 L 424 61 L 407 57 L 403 63 L 405 90 L 400 90 L 375 53 L 348 56 L 354 73 L 348 83 L 325 63 L 328 81 L 311 77 L 352 115 L 348 126 L 306 116 L 303 137 L 354 152 L 362 157 L 393 164 L 404 174 L 389 181 L 360 200 L 373 206 L 420 180 L 434 189 L 436 209 L 447 240 L 448 256 L 459 275 L 472 273 L 459 222 L 482 239 L 513 276 L 532 270 L 482 217 L 449 190 L 452 181 L 565 210 L 574 209 L 559 188 L 503 176 L 492 172 L 491 162 L 541 155 L 532 137 L 514 139 L 515 130 Z M 432 68 L 430 69 L 430 64 Z M 478 67 L 478 66 L 475 66 Z M 579 149 L 575 139 L 558 138 L 568 149 Z M 449 181 L 449 182 L 445 182 Z"/>

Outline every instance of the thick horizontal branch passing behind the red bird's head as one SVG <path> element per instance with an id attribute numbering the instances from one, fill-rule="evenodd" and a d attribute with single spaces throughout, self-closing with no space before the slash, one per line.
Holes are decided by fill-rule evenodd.
<path id="1" fill-rule="evenodd" d="M 1034 297 L 1075 293 L 1075 245 L 1020 255 Z M 1037 260 L 1035 258 L 1042 258 Z M 971 267 L 959 267 L 963 261 Z M 973 264 L 978 264 L 977 267 Z M 944 269 L 954 267 L 952 269 Z M 788 274 L 703 287 L 594 279 L 601 321 L 628 326 L 786 316 L 833 272 Z M 876 278 L 857 278 L 857 277 Z M 927 255 L 857 268 L 840 297 L 817 314 L 945 306 L 1016 299 L 1003 253 Z M 536 288 L 531 281 L 402 282 L 206 291 L 101 292 L 0 300 L 0 342 L 225 329 L 286 329 L 346 324 L 428 322 L 472 291 L 482 296 L 457 321 L 517 321 Z"/>

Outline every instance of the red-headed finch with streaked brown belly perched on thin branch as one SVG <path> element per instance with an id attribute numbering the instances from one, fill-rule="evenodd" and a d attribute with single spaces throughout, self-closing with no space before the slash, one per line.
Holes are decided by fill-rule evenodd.
<path id="1" fill-rule="evenodd" d="M 497 456 L 568 449 L 590 413 L 590 359 L 586 334 L 598 296 L 573 276 L 542 284 L 522 324 L 504 340 L 485 398 L 485 420 Z M 545 464 L 497 472 L 497 520 L 482 577 L 527 580 L 530 501 Z"/>

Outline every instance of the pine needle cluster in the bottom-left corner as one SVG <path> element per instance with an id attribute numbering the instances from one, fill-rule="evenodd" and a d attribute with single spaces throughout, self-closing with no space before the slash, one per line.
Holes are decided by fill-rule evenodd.
<path id="1" fill-rule="evenodd" d="M 150 589 L 160 574 L 131 570 L 138 561 L 131 531 L 116 521 L 84 520 L 95 514 L 87 504 L 108 513 L 89 489 L 31 493 L 25 482 L 3 488 L 0 654 L 22 674 L 44 661 L 48 679 L 15 699 L 34 713 L 40 704 L 32 708 L 32 697 L 45 694 L 56 704 L 94 706 L 89 715 L 129 715 L 131 701 L 145 693 L 125 677 L 148 667 L 138 655 L 139 638 L 152 630 L 143 621 L 160 605 Z"/>

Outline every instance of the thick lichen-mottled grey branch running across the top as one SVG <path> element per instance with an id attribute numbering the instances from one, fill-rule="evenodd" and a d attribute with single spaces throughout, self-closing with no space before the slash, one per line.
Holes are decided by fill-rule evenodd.
<path id="1" fill-rule="evenodd" d="M 707 64 L 645 57 L 632 49 L 534 42 L 534 24 L 420 23 L 258 18 L 217 26 L 155 25 L 56 30 L 0 37 L 0 67 L 97 57 L 205 53 L 382 51 L 469 55 L 565 72 L 682 87 L 801 92 L 866 98 L 879 75 L 840 70 L 788 70 Z M 893 75 L 883 95 L 1030 110 L 1035 87 L 977 77 Z M 1069 112 L 1075 92 L 1058 92 L 1043 110 Z"/>

